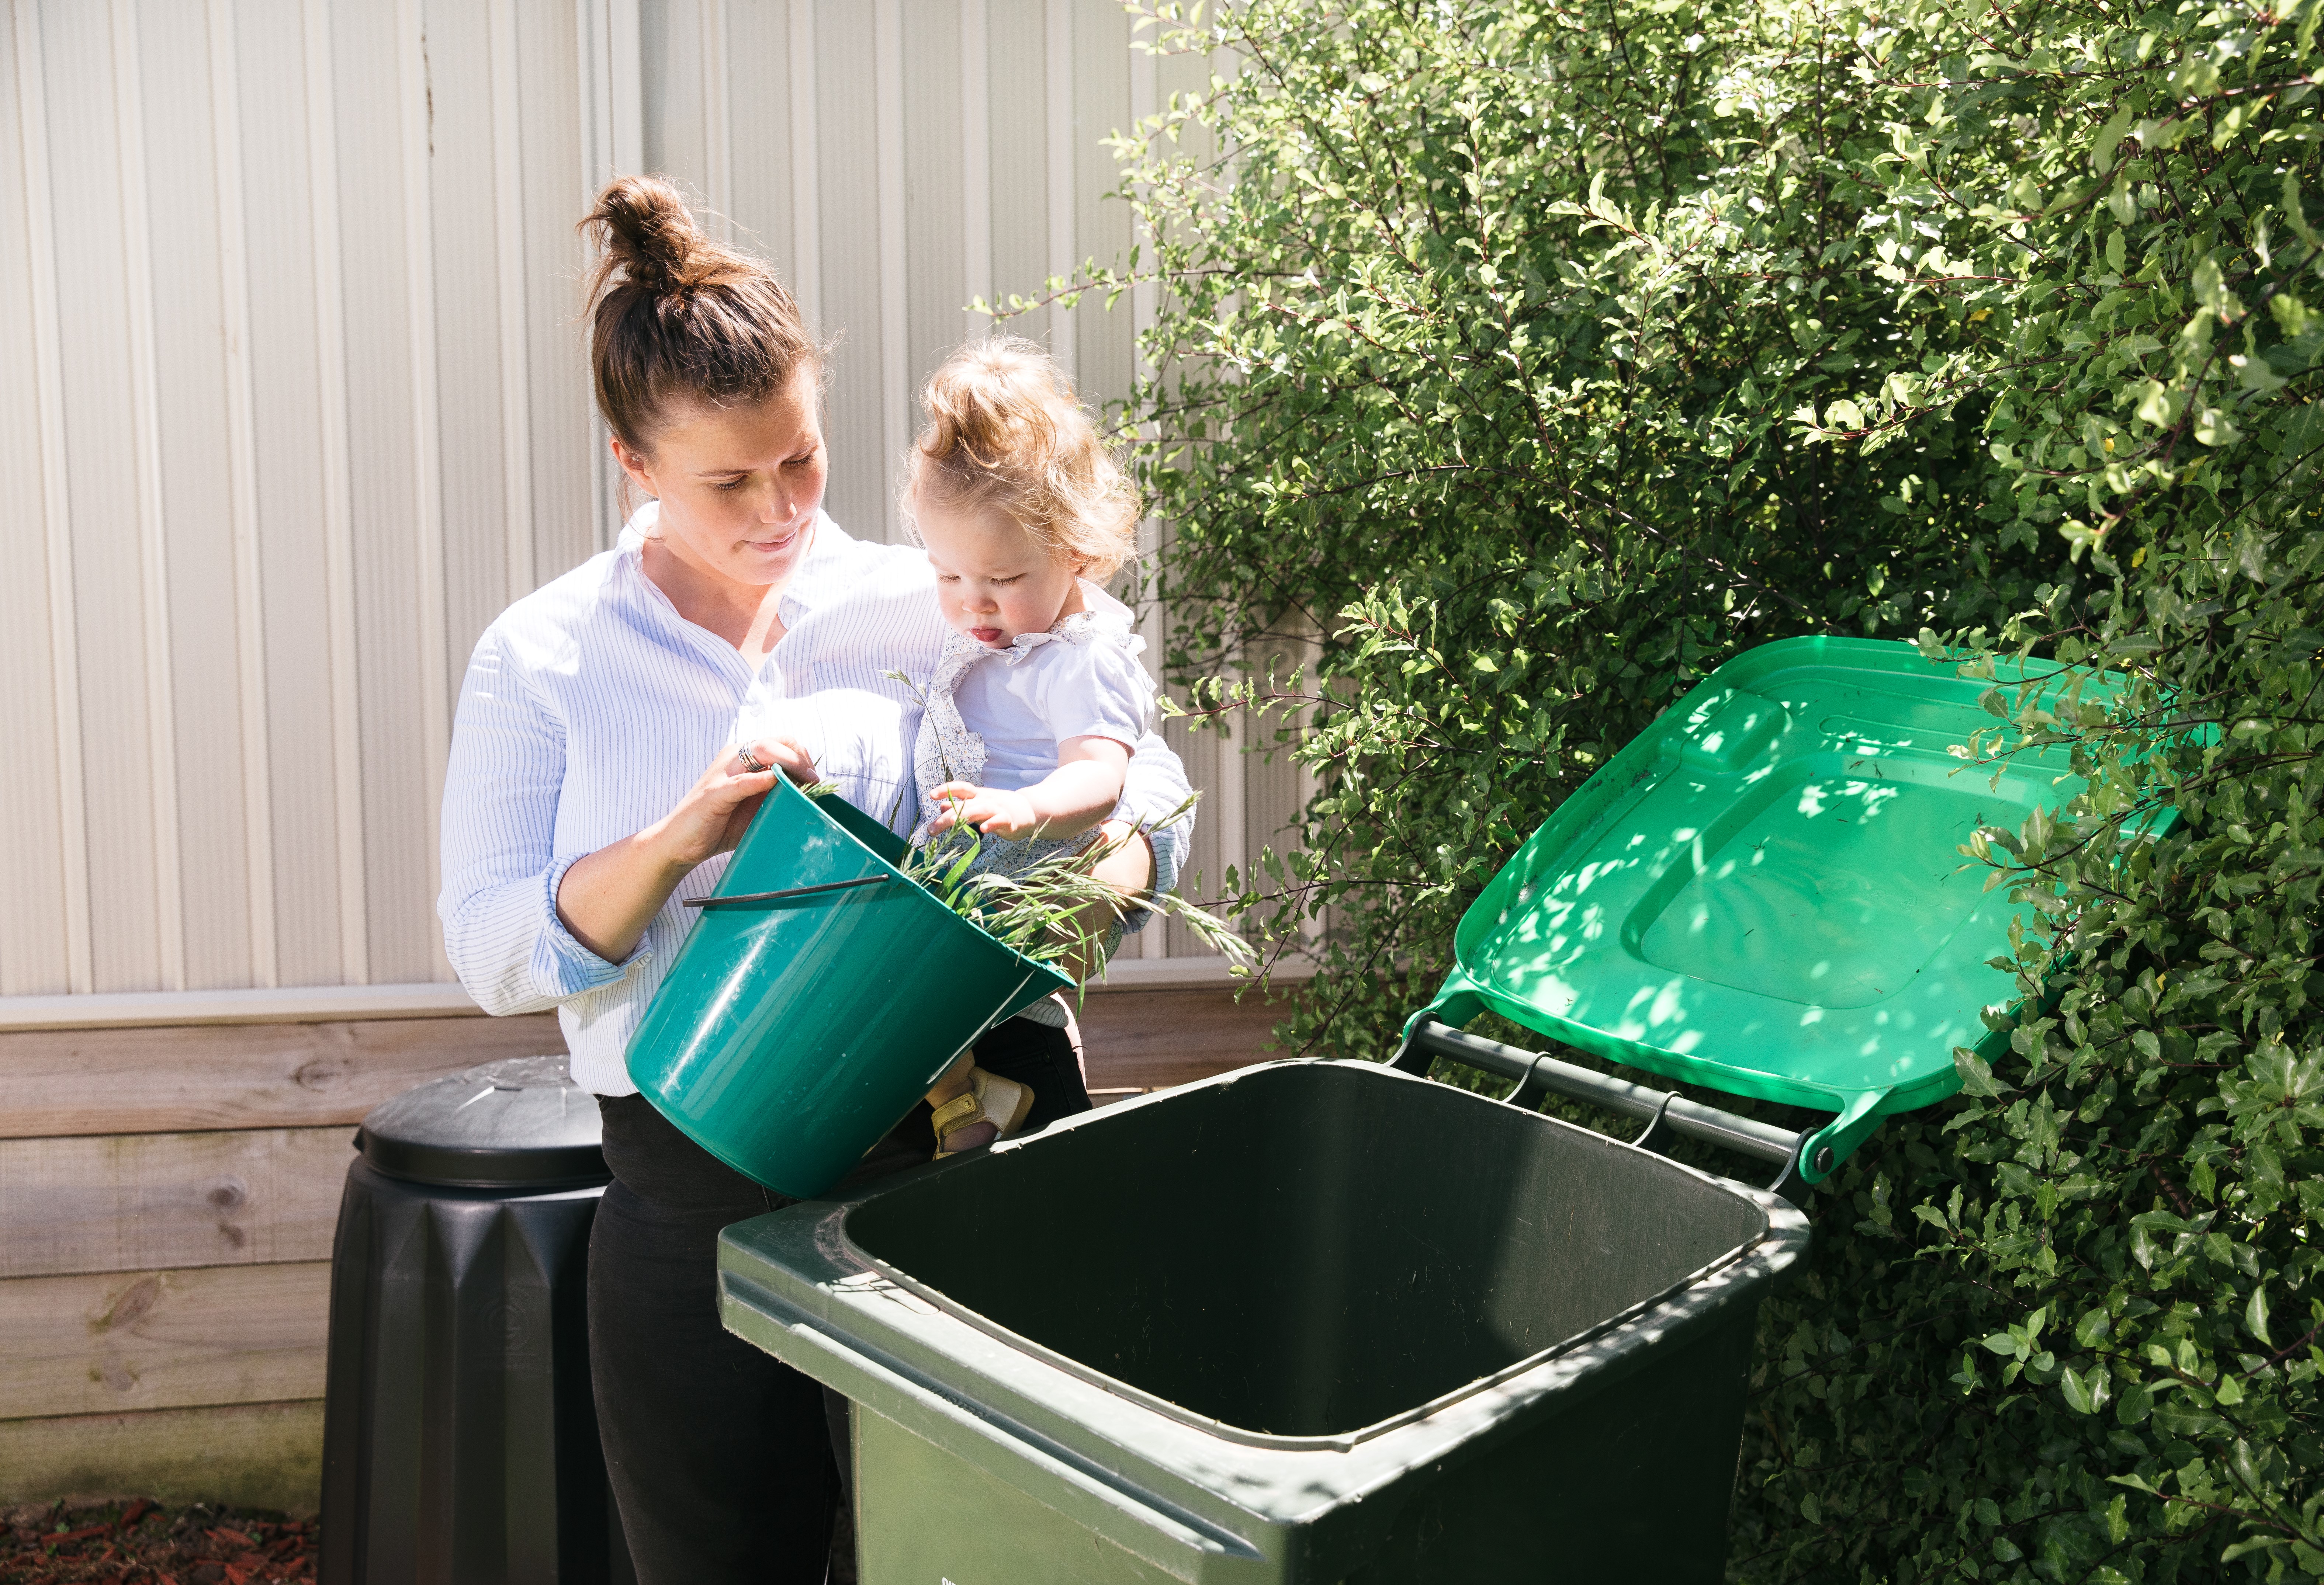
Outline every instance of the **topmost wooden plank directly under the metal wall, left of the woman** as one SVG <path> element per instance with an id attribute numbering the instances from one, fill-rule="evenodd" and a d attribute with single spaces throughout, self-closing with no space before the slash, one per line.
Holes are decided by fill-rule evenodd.
<path id="1" fill-rule="evenodd" d="M 565 1050 L 555 1013 L 0 1034 L 0 1139 L 360 1123 L 476 1062 Z"/>

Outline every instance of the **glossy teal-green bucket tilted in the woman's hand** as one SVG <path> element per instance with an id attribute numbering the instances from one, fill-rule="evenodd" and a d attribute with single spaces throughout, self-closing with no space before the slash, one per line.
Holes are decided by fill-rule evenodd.
<path id="1" fill-rule="evenodd" d="M 779 781 L 630 1037 L 646 1099 L 781 1195 L 827 1190 L 978 1034 L 1071 990 L 902 858 L 846 799 Z"/>

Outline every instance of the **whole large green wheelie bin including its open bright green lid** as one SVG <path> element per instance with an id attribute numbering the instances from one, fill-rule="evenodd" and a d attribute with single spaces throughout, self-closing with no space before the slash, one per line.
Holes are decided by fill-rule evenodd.
<path id="1" fill-rule="evenodd" d="M 1717 1580 L 1792 1202 L 2006 1039 L 1980 1011 L 2013 909 L 1961 848 L 2078 783 L 2064 751 L 1964 767 L 1994 681 L 2110 693 L 1750 651 L 1485 888 L 1394 1062 L 1260 1064 L 730 1227 L 725 1325 L 853 1404 L 862 1580 Z M 1813 1116 L 1462 1027 L 1487 1011 Z"/>

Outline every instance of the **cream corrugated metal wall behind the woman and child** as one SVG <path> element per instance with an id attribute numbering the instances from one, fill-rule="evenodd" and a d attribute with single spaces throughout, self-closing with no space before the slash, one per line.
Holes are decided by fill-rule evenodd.
<path id="1" fill-rule="evenodd" d="M 964 304 L 1127 251 L 1102 139 L 1206 72 L 1113 0 L 12 0 L 0 997 L 449 978 L 467 651 L 616 523 L 600 179 L 776 260 L 839 337 L 830 509 L 897 537 Z M 1111 397 L 1134 311 L 1018 328 Z M 1232 760 L 1213 876 L 1297 795 Z"/>

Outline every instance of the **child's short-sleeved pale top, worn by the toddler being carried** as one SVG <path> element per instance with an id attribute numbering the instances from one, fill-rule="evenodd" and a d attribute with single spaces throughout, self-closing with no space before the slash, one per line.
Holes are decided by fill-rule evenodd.
<path id="1" fill-rule="evenodd" d="M 1129 630 L 1129 607 L 1095 583 L 1081 597 L 1088 611 L 1020 632 L 962 672 L 953 702 L 985 751 L 967 781 L 1018 792 L 1057 769 L 1057 744 L 1069 737 L 1127 748 L 1153 730 L 1155 686 L 1139 665 L 1146 639 Z"/>

